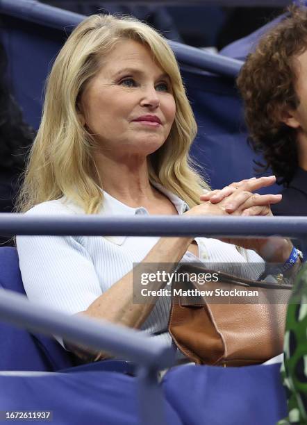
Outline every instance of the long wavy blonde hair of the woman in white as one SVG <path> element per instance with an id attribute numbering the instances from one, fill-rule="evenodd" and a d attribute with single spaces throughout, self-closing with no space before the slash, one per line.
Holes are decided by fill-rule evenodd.
<path id="1" fill-rule="evenodd" d="M 189 156 L 197 124 L 172 49 L 160 34 L 138 19 L 92 15 L 74 29 L 47 78 L 42 122 L 24 173 L 18 211 L 63 196 L 73 199 L 88 214 L 101 208 L 103 182 L 94 166 L 94 140 L 78 117 L 78 100 L 99 71 L 103 56 L 125 39 L 149 47 L 156 63 L 171 79 L 176 102 L 169 136 L 148 158 L 149 179 L 177 194 L 190 207 L 200 203 L 199 196 L 208 185 Z"/>

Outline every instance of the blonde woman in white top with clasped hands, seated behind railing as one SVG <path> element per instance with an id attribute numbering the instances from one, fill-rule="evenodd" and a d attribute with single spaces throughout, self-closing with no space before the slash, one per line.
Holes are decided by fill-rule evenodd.
<path id="1" fill-rule="evenodd" d="M 48 78 L 19 210 L 71 217 L 272 215 L 269 203 L 280 195 L 251 192 L 274 177 L 233 183 L 206 200 L 207 185 L 189 157 L 196 133 L 165 39 L 132 17 L 88 17 Z M 169 298 L 155 306 L 133 303 L 133 263 L 263 262 L 263 241 L 240 243 L 247 249 L 206 238 L 17 237 L 29 299 L 140 328 L 165 344 L 171 344 Z M 269 259 L 285 261 L 291 251 L 288 240 L 279 240 Z M 90 353 L 87 360 L 93 360 Z"/>

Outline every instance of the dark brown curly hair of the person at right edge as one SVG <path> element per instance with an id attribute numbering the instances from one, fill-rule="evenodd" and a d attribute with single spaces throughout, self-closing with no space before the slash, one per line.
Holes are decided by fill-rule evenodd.
<path id="1" fill-rule="evenodd" d="M 247 56 L 237 84 L 244 100 L 249 142 L 263 153 L 277 182 L 287 186 L 297 169 L 297 131 L 281 122 L 281 113 L 299 106 L 294 57 L 307 49 L 307 8 L 290 6 L 285 18 Z"/>

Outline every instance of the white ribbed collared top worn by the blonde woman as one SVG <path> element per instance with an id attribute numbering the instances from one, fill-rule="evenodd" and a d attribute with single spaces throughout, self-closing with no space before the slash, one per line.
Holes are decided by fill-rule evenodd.
<path id="1" fill-rule="evenodd" d="M 161 185 L 156 188 L 172 201 L 179 215 L 188 205 Z M 99 215 L 128 217 L 149 215 L 146 208 L 131 208 L 103 192 L 103 207 Z M 84 211 L 72 201 L 47 201 L 28 210 L 26 215 L 76 215 Z M 158 237 L 97 237 L 97 236 L 17 236 L 19 267 L 28 299 L 69 315 L 86 310 L 90 304 L 114 283 L 140 263 L 158 242 Z M 245 264 L 242 276 L 256 278 L 255 268 L 247 263 L 259 263 L 258 274 L 264 269 L 263 259 L 251 250 L 238 250 L 220 240 L 195 238 L 199 257 L 187 251 L 182 262 L 224 263 L 219 269 L 232 272 L 233 263 Z M 171 344 L 167 333 L 170 297 L 161 297 L 142 325 L 142 330 L 154 338 Z M 63 344 L 61 338 L 57 340 Z"/>

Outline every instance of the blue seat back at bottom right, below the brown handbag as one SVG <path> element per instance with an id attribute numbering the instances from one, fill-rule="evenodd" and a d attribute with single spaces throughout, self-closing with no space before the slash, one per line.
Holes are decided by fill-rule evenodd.
<path id="1" fill-rule="evenodd" d="M 287 415 L 280 367 L 174 367 L 163 389 L 184 424 L 273 425 Z"/>

